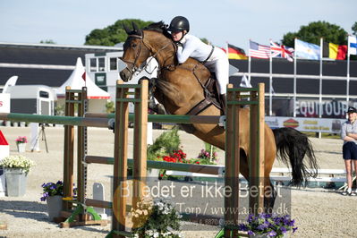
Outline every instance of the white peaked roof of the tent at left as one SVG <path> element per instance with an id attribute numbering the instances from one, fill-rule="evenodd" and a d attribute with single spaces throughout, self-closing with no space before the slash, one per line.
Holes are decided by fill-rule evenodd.
<path id="1" fill-rule="evenodd" d="M 82 78 L 83 73 L 85 74 L 85 81 Z M 70 86 L 71 89 L 81 89 L 82 87 L 87 87 L 87 98 L 89 99 L 109 99 L 110 94 L 105 90 L 100 89 L 90 78 L 81 63 L 81 58 L 77 59 L 75 69 L 73 70 L 71 76 L 67 81 L 64 82 L 56 91 L 58 98 L 64 98 L 65 87 Z"/>

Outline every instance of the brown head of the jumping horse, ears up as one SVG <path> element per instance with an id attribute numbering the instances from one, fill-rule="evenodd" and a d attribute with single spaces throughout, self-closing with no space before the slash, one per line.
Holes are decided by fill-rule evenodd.
<path id="1" fill-rule="evenodd" d="M 150 56 L 150 52 L 148 47 L 143 43 L 144 34 L 142 30 L 139 30 L 134 22 L 132 22 L 133 30 L 130 30 L 125 25 L 123 25 L 123 28 L 128 34 L 128 38 L 123 45 L 124 52 L 121 59 L 127 66 L 120 72 L 120 77 L 123 81 L 130 81 L 135 72 L 142 70 L 142 67 Z"/>

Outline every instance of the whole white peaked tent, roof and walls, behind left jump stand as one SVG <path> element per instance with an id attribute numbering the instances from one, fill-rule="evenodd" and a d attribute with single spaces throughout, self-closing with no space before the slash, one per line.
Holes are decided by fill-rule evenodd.
<path id="1" fill-rule="evenodd" d="M 83 77 L 85 73 L 85 77 Z M 89 112 L 105 113 L 106 101 L 110 98 L 109 93 L 100 89 L 91 79 L 81 63 L 81 58 L 77 59 L 76 67 L 71 76 L 64 84 L 56 90 L 58 104 L 64 103 L 65 88 L 70 86 L 71 89 L 81 89 L 87 87 L 87 98 L 89 99 Z"/>

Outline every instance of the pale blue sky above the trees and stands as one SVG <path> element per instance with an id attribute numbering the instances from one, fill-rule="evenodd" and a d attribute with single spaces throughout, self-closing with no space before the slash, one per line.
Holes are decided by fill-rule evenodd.
<path id="1" fill-rule="evenodd" d="M 0 0 L 0 41 L 81 46 L 91 30 L 133 18 L 169 23 L 187 17 L 191 33 L 218 47 L 247 50 L 249 39 L 268 45 L 311 21 L 328 21 L 352 33 L 356 0 Z M 353 17 L 354 15 L 354 17 Z"/>

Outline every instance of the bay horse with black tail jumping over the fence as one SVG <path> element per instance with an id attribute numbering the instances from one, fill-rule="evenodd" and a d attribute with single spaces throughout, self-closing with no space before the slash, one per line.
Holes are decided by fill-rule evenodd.
<path id="1" fill-rule="evenodd" d="M 155 81 L 154 97 L 165 106 L 171 115 L 186 115 L 191 109 L 204 100 L 204 87 L 210 72 L 200 62 L 189 58 L 184 64 L 178 64 L 176 45 L 166 31 L 162 21 L 152 23 L 140 30 L 132 22 L 133 30 L 124 26 L 128 34 L 123 45 L 121 58 L 127 67 L 120 72 L 123 81 L 130 81 L 136 72 L 140 72 L 147 64 L 149 57 L 154 57 L 159 65 Z M 240 173 L 249 181 L 249 151 L 250 151 L 250 113 L 249 107 L 240 110 Z M 221 110 L 215 105 L 207 106 L 198 115 L 221 115 Z M 216 146 L 225 149 L 225 129 L 218 124 L 194 123 L 193 134 Z M 317 161 L 310 140 L 305 134 L 293 128 L 271 130 L 265 123 L 265 192 L 264 207 L 273 208 L 276 192 L 270 182 L 270 171 L 276 156 L 285 164 L 292 166 L 292 185 L 301 186 L 309 176 L 316 176 Z M 277 155 L 278 152 L 278 155 Z M 306 159 L 304 157 L 306 156 Z M 309 168 L 309 169 L 308 169 Z M 267 195 L 271 194 L 271 195 Z"/>

